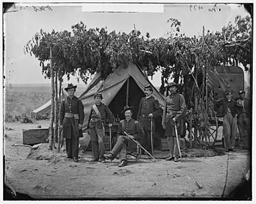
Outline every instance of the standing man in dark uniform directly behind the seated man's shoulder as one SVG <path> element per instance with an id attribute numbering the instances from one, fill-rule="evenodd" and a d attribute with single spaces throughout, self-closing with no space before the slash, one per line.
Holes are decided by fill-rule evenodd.
<path id="1" fill-rule="evenodd" d="M 154 119 L 161 115 L 162 109 L 159 105 L 159 101 L 152 96 L 153 89 L 150 84 L 145 85 L 144 91 L 146 97 L 141 98 L 139 111 L 137 115 L 137 120 L 138 122 L 140 122 L 145 133 L 143 138 L 141 138 L 140 140 L 140 144 L 142 147 L 145 147 L 145 149 L 148 152 L 151 152 L 152 154 L 150 118 L 152 119 L 153 122 L 152 132 L 154 132 L 156 129 Z M 141 150 L 141 154 L 144 154 L 144 150 Z"/>

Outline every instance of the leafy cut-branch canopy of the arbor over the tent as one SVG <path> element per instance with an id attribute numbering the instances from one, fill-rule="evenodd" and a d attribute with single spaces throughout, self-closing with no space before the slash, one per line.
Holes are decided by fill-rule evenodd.
<path id="1" fill-rule="evenodd" d="M 202 91 L 207 88 L 206 70 L 211 66 L 237 65 L 239 62 L 252 67 L 251 18 L 238 16 L 235 25 L 228 24 L 221 32 L 207 31 L 192 38 L 179 33 L 179 20 L 170 18 L 168 22 L 172 32 L 165 38 L 156 39 L 150 38 L 149 33 L 142 36 L 135 28 L 129 34 L 108 33 L 106 27 L 86 29 L 86 25 L 79 22 L 72 25 L 72 33 L 41 31 L 26 44 L 25 50 L 35 55 L 42 73 L 50 77 L 51 66 L 45 62 L 49 61 L 49 49 L 52 48 L 52 67 L 59 73 L 60 82 L 63 75 L 69 78 L 75 73 L 78 73 L 77 80 L 81 78 L 85 83 L 94 73 L 100 73 L 105 79 L 129 61 L 138 64 L 145 77 L 153 77 L 156 71 L 161 71 L 160 92 L 164 94 L 166 91 L 169 78 L 180 83 L 186 102 L 195 109 L 196 125 L 202 132 L 203 119 L 208 117 Z M 200 103 L 199 98 L 202 99 Z"/>

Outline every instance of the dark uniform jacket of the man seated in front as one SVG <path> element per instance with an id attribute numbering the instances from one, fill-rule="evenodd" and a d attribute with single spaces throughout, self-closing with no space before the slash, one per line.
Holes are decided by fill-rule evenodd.
<path id="1" fill-rule="evenodd" d="M 117 137 L 120 135 L 126 136 L 124 132 L 134 136 L 134 140 L 140 140 L 140 138 L 144 135 L 144 131 L 141 127 L 140 122 L 134 119 L 130 119 L 129 121 L 127 121 L 126 119 L 120 120 L 118 124 Z M 135 150 L 136 143 L 134 143 L 132 140 L 129 140 L 127 149 Z"/>

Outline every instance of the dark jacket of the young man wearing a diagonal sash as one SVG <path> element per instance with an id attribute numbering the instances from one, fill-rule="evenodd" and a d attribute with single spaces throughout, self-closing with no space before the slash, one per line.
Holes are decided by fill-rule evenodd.
<path id="1" fill-rule="evenodd" d="M 100 112 L 100 115 L 102 117 L 101 119 L 103 120 L 103 123 L 106 124 L 106 119 L 109 119 L 109 124 L 112 124 L 114 121 L 113 114 L 112 114 L 111 110 L 108 108 L 108 106 L 105 105 L 104 103 L 100 103 L 100 105 L 97 106 L 97 108 Z M 97 126 L 97 128 L 102 128 L 101 122 L 94 122 L 91 119 L 99 119 L 97 113 L 93 109 L 93 106 L 91 107 L 91 112 L 90 112 L 89 119 L 88 119 L 88 128 L 93 128 L 94 126 Z"/>

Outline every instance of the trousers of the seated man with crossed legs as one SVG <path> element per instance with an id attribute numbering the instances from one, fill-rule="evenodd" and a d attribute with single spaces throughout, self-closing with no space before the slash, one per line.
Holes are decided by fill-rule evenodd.
<path id="1" fill-rule="evenodd" d="M 118 140 L 115 146 L 113 147 L 110 153 L 114 157 L 116 157 L 120 152 L 120 161 L 123 161 L 123 160 L 127 161 L 127 147 L 128 147 L 129 140 L 130 139 L 127 138 L 127 136 L 120 135 L 118 137 Z"/>

